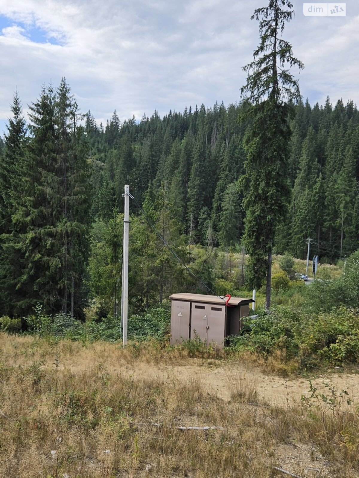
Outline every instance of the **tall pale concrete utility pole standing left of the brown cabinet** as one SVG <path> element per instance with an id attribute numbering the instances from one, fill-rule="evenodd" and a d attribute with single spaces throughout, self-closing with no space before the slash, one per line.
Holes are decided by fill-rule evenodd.
<path id="1" fill-rule="evenodd" d="M 122 261 L 122 296 L 121 323 L 123 330 L 123 347 L 127 343 L 128 318 L 128 232 L 129 232 L 129 185 L 124 186 L 124 217 L 123 217 L 123 261 Z"/>

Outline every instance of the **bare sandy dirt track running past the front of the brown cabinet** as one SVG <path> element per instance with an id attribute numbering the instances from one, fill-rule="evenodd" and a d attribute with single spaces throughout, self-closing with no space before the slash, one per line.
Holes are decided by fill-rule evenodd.
<path id="1" fill-rule="evenodd" d="M 107 351 L 106 351 L 107 352 Z M 160 380 L 200 380 L 209 393 L 229 401 L 232 393 L 242 388 L 255 389 L 258 398 L 273 405 L 285 405 L 288 402 L 298 403 L 302 394 L 309 396 L 309 381 L 303 378 L 285 379 L 276 375 L 265 374 L 258 368 L 236 361 L 214 361 L 200 359 L 181 359 L 180 365 L 172 363 L 125 361 L 122 358 L 109 356 L 105 351 L 98 354 L 98 361 L 79 358 L 76 365 L 62 360 L 62 366 L 73 372 L 92 369 L 103 364 L 111 373 L 119 373 L 127 377 L 157 378 Z M 79 351 L 81 355 L 81 351 Z M 97 363 L 96 363 L 97 362 Z M 352 373 L 330 373 L 320 375 L 312 380 L 315 387 L 330 394 L 324 383 L 334 385 L 338 392 L 346 390 L 350 398 L 359 403 L 359 375 Z"/>

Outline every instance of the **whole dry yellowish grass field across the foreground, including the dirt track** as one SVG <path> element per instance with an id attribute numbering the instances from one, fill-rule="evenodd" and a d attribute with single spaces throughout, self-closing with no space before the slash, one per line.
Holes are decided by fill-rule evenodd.
<path id="1" fill-rule="evenodd" d="M 0 477 L 356 477 L 343 387 L 357 377 L 310 392 L 243 359 L 0 334 Z"/>

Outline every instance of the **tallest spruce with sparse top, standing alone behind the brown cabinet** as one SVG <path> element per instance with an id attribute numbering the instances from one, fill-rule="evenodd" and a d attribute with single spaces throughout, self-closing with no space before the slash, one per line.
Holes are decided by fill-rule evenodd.
<path id="1" fill-rule="evenodd" d="M 254 288 L 266 279 L 267 309 L 273 240 L 290 197 L 287 177 L 290 102 L 300 99 L 298 82 L 286 66 L 303 68 L 293 57 L 292 46 L 280 38 L 292 13 L 292 3 L 288 0 L 269 0 L 268 7 L 255 10 L 252 19 L 261 18 L 261 43 L 254 52 L 254 61 L 244 67 L 249 73 L 247 84 L 241 89 L 242 95 L 247 93 L 249 102 L 242 119 L 251 121 L 244 139 L 247 161 L 242 180 L 245 244 L 250 256 L 247 272 Z"/>

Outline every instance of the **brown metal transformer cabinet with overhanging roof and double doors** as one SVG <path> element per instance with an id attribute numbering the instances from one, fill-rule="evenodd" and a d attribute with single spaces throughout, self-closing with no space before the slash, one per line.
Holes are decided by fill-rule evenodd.
<path id="1" fill-rule="evenodd" d="M 252 299 L 215 295 L 172 294 L 171 299 L 171 345 L 199 337 L 207 346 L 214 343 L 224 347 L 225 338 L 239 335 L 242 317 L 249 315 Z"/>

